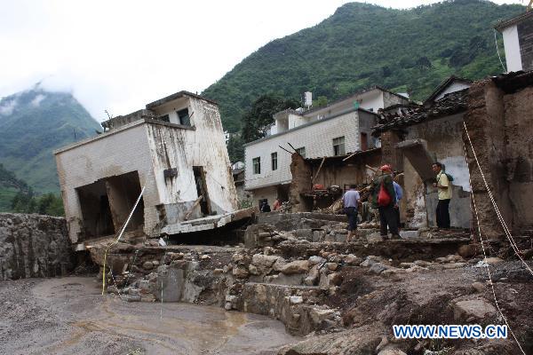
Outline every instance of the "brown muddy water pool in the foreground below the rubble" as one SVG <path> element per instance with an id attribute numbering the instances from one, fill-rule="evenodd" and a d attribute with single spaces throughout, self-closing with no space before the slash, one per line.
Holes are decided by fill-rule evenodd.
<path id="1" fill-rule="evenodd" d="M 92 278 L 65 278 L 44 280 L 32 289 L 68 329 L 36 353 L 94 355 L 100 353 L 95 342 L 118 341 L 131 349 L 139 344 L 140 353 L 147 354 L 253 354 L 299 340 L 264 316 L 195 304 L 126 303 L 100 296 L 98 286 Z M 124 354 L 123 348 L 105 353 Z"/>

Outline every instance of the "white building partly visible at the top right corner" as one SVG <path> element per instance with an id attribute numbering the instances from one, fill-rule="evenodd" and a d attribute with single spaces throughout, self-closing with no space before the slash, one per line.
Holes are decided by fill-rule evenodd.
<path id="1" fill-rule="evenodd" d="M 533 70 L 533 11 L 497 24 L 504 36 L 507 72 Z"/>

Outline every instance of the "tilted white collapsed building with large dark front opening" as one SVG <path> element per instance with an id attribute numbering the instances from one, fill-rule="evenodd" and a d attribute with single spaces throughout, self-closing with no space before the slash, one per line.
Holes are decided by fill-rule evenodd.
<path id="1" fill-rule="evenodd" d="M 143 186 L 127 232 L 156 236 L 237 209 L 215 103 L 180 91 L 102 125 L 107 132 L 55 152 L 71 241 L 118 233 Z"/>

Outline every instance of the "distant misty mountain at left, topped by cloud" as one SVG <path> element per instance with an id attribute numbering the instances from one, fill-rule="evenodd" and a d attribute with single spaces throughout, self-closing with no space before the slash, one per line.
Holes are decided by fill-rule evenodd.
<path id="1" fill-rule="evenodd" d="M 26 182 L 36 193 L 59 193 L 52 150 L 94 136 L 101 130 L 91 114 L 66 92 L 44 91 L 36 85 L 0 99 L 0 203 L 20 191 L 13 178 Z M 7 171 L 7 172 L 5 172 Z M 7 179 L 6 179 L 7 180 Z M 3 202 L 1 200 L 4 200 Z"/>

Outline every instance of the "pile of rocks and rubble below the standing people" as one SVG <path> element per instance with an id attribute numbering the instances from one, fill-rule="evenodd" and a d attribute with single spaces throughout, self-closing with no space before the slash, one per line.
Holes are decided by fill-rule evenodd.
<path id="1" fill-rule="evenodd" d="M 236 247 L 119 245 L 107 255 L 113 271 L 107 292 L 130 302 L 217 304 L 227 312 L 268 315 L 290 334 L 306 335 L 280 351 L 286 354 L 337 353 L 338 347 L 382 355 L 481 349 L 484 344 L 398 342 L 391 329 L 413 322 L 497 322 L 486 266 L 500 292 L 527 277 L 516 265 L 509 268 L 509 246 L 490 241 L 492 254 L 485 259 L 466 231 L 422 228 L 402 236 L 384 240 L 365 225 L 346 243 L 346 222 L 337 216 L 269 214 L 248 226 Z M 527 255 L 528 242 L 521 240 Z M 101 248 L 91 255 L 101 264 Z M 530 283 L 513 289 L 533 291 Z M 513 321 L 533 325 L 516 312 L 526 296 L 505 302 Z M 508 341 L 494 346 L 501 351 L 494 353 L 512 353 L 505 352 L 513 349 Z"/>

